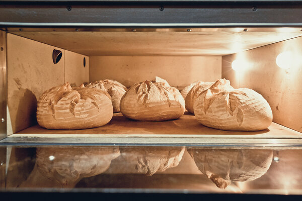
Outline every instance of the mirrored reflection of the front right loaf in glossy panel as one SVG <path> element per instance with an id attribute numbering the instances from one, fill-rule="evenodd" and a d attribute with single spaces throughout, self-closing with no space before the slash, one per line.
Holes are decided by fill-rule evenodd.
<path id="1" fill-rule="evenodd" d="M 272 150 L 187 148 L 198 169 L 219 188 L 231 181 L 251 181 L 265 174 Z"/>

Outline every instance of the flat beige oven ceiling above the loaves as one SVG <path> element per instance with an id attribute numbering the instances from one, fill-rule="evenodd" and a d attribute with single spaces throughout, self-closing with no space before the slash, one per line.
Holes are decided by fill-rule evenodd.
<path id="1" fill-rule="evenodd" d="M 301 28 L 11 28 L 8 31 L 88 56 L 222 56 L 302 35 Z"/>

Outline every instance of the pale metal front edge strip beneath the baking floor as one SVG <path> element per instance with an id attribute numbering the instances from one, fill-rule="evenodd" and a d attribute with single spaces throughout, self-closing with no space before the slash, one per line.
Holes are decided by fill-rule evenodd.
<path id="1" fill-rule="evenodd" d="M 104 135 L 105 136 L 105 135 Z M 0 145 L 124 145 L 124 146 L 202 146 L 202 147 L 302 147 L 302 139 L 244 139 L 201 137 L 7 137 Z"/>

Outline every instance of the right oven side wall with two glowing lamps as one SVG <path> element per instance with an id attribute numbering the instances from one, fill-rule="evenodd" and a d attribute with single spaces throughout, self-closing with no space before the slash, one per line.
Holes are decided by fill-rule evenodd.
<path id="1" fill-rule="evenodd" d="M 273 121 L 302 132 L 302 37 L 222 57 L 222 77 L 235 88 L 252 88 L 260 93 L 273 111 Z M 290 51 L 285 58 L 290 69 L 279 68 L 276 57 Z M 286 60 L 287 59 L 287 60 Z M 232 62 L 241 61 L 243 69 L 234 71 Z"/>

